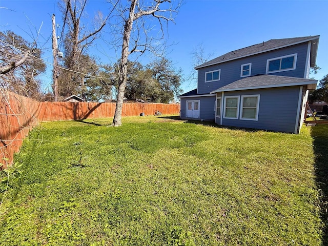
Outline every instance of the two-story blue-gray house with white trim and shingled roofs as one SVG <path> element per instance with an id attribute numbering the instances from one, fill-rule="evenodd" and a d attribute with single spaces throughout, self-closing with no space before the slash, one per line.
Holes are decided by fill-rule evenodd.
<path id="1" fill-rule="evenodd" d="M 222 126 L 299 133 L 319 36 L 271 39 L 202 65 L 197 89 L 179 96 L 181 118 Z"/>

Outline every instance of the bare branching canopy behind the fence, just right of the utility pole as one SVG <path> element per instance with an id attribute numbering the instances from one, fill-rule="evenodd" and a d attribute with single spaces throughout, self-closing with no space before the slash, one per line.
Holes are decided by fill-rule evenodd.
<path id="1" fill-rule="evenodd" d="M 103 17 L 103 14 L 98 12 L 92 25 L 88 26 L 90 20 L 86 13 L 87 3 L 88 0 L 62 0 L 58 4 L 63 13 L 64 24 L 61 35 L 64 36 L 64 66 L 67 68 L 59 71 L 58 76 L 58 91 L 62 97 L 78 93 L 86 99 L 84 74 L 94 70 L 91 67 L 95 61 L 86 52 L 95 39 L 100 37 L 101 30 L 109 17 Z"/>

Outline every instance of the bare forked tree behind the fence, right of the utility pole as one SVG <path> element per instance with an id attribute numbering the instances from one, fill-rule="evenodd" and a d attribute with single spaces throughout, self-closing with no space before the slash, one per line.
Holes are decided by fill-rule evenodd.
<path id="1" fill-rule="evenodd" d="M 98 12 L 92 28 L 88 27 L 86 23 L 89 23 L 89 20 L 85 11 L 87 2 L 88 0 L 62 0 L 59 4 L 61 12 L 63 12 L 63 30 L 68 29 L 64 40 L 64 60 L 68 70 L 61 71 L 65 76 L 61 76 L 59 84 L 70 84 L 70 88 L 73 88 L 73 90 L 78 86 L 84 88 L 85 77 L 74 73 L 74 71 L 87 72 L 81 60 L 84 59 L 88 47 L 93 44 L 95 39 L 100 37 L 100 32 L 109 18 L 109 15 L 103 17 L 103 14 Z M 83 18 L 85 22 L 82 21 Z M 70 91 L 65 93 L 70 93 Z M 83 92 L 81 94 L 84 97 Z"/>

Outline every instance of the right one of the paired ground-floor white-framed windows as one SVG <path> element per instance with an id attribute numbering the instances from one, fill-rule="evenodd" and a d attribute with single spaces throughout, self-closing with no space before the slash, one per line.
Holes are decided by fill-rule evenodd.
<path id="1" fill-rule="evenodd" d="M 260 95 L 241 96 L 240 119 L 257 120 Z"/>

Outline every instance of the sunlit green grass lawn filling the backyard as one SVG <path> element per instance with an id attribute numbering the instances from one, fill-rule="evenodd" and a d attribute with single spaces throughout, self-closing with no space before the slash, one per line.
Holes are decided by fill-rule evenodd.
<path id="1" fill-rule="evenodd" d="M 323 243 L 310 127 L 294 135 L 174 118 L 33 130 L 6 192 L 3 178 L 0 244 Z"/>

